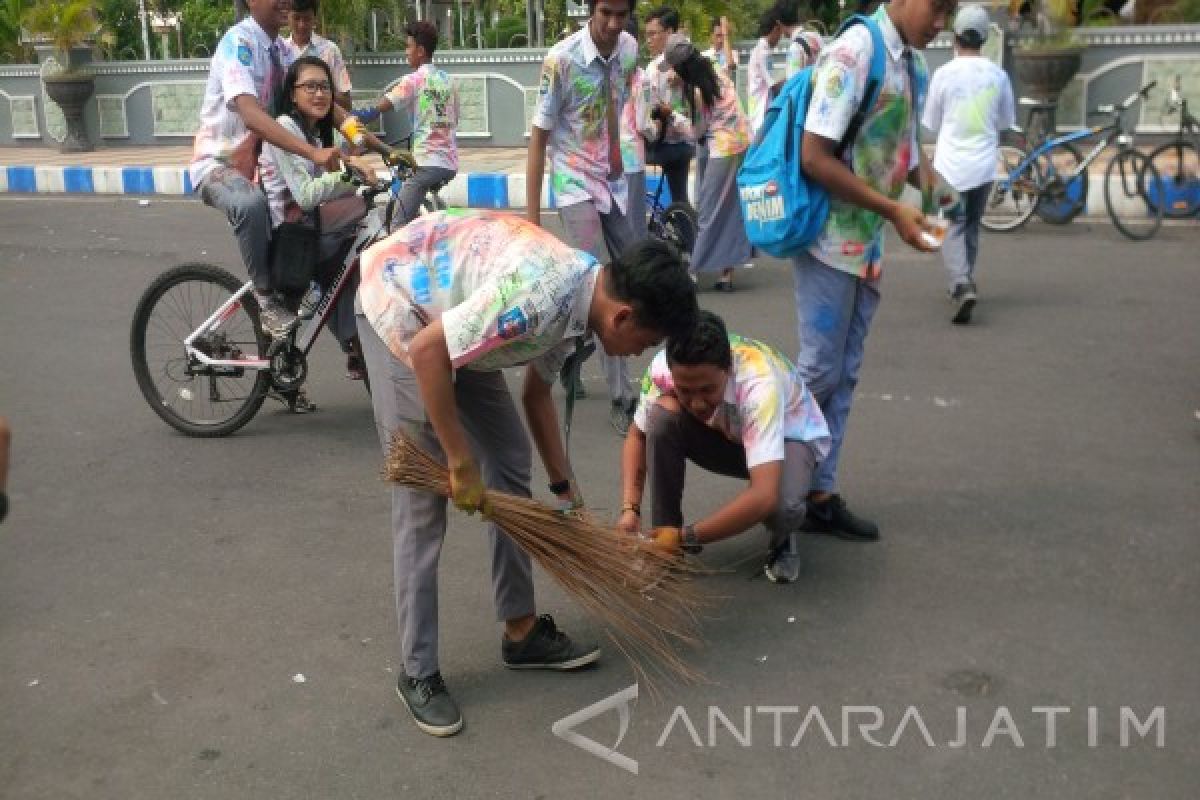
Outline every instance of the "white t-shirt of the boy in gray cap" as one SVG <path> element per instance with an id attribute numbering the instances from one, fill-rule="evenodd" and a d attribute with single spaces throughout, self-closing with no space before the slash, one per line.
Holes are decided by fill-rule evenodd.
<path id="1" fill-rule="evenodd" d="M 959 192 L 995 178 L 1000 132 L 1015 121 L 1013 85 L 988 59 L 960 55 L 934 73 L 922 125 L 937 133 L 934 169 Z"/>

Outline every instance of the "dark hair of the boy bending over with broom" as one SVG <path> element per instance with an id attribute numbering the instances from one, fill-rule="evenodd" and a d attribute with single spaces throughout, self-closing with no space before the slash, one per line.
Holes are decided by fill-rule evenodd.
<path id="1" fill-rule="evenodd" d="M 696 287 L 679 251 L 659 239 L 624 248 L 605 270 L 605 289 L 634 307 L 640 327 L 679 336 L 696 324 Z"/>

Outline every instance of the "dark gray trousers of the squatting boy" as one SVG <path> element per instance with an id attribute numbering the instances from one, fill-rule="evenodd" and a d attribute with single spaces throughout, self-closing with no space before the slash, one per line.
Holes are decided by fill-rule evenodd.
<path id="1" fill-rule="evenodd" d="M 661 405 L 647 409 L 646 464 L 653 492 L 650 521 L 655 528 L 683 524 L 683 483 L 688 462 L 728 477 L 749 480 L 746 451 L 686 411 L 668 411 Z M 784 443 L 784 476 L 779 506 L 763 519 L 779 541 L 804 522 L 804 500 L 809 494 L 816 459 L 803 441 Z"/>

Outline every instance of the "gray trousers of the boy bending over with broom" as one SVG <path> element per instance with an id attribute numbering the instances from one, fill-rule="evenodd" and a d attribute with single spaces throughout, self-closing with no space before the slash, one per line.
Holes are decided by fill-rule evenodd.
<path id="1" fill-rule="evenodd" d="M 371 404 L 384 452 L 391 433 L 403 428 L 445 463 L 416 386 L 416 375 L 392 355 L 366 317 L 358 314 L 359 339 L 371 374 Z M 532 455 L 524 426 L 502 372 L 455 373 L 455 404 L 490 489 L 529 497 Z M 391 489 L 392 569 L 396 618 L 404 673 L 428 678 L 438 672 L 438 558 L 446 531 L 446 500 L 402 486 Z M 499 620 L 534 613 L 529 555 L 494 524 L 492 597 Z"/>

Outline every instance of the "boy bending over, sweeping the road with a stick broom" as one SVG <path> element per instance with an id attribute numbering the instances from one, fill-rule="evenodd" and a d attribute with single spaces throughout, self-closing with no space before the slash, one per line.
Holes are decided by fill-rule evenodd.
<path id="1" fill-rule="evenodd" d="M 582 504 L 559 434 L 551 386 L 594 333 L 613 355 L 636 355 L 686 333 L 697 306 L 678 253 L 642 240 L 610 264 L 494 211 L 419 217 L 362 254 L 359 338 L 374 379 L 376 427 L 386 452 L 403 428 L 450 468 L 456 506 L 487 489 L 530 497 L 530 447 L 503 369 L 524 366 L 529 433 L 564 507 Z M 476 458 L 479 461 L 476 461 Z M 438 664 L 438 557 L 445 498 L 392 488 L 396 608 L 402 634 L 396 691 L 418 727 L 449 736 L 462 715 Z M 492 587 L 504 625 L 500 654 L 520 669 L 575 669 L 600 656 L 536 616 L 529 555 L 491 525 Z"/>

